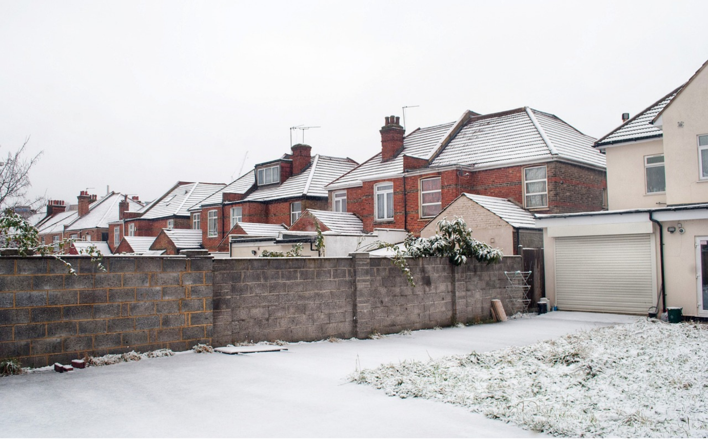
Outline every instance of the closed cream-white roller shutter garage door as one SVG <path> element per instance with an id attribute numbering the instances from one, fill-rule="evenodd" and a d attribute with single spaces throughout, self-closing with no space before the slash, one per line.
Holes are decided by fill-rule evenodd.
<path id="1" fill-rule="evenodd" d="M 649 234 L 556 237 L 560 310 L 646 314 L 654 305 Z"/>

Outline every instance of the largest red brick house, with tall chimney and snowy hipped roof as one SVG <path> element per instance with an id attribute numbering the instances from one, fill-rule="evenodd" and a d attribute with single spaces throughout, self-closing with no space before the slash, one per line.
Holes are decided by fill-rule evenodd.
<path id="1" fill-rule="evenodd" d="M 326 186 L 331 211 L 364 229 L 420 235 L 462 193 L 508 198 L 533 213 L 600 211 L 605 156 L 594 139 L 531 108 L 480 115 L 404 136 L 398 117 L 381 128 L 382 150 Z"/>

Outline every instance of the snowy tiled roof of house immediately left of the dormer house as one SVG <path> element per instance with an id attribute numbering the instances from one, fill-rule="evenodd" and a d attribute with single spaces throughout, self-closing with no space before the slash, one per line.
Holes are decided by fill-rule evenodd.
<path id="1" fill-rule="evenodd" d="M 188 217 L 189 208 L 223 187 L 223 183 L 178 182 L 166 194 L 146 206 L 141 211 L 141 218 Z"/>

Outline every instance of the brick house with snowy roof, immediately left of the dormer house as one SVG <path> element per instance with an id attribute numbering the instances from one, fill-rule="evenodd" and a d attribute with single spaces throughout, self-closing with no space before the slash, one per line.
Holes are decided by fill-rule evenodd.
<path id="1" fill-rule="evenodd" d="M 115 252 L 123 237 L 157 237 L 163 229 L 192 229 L 188 208 L 223 187 L 223 183 L 178 181 L 142 210 L 115 218 L 109 227 L 110 249 Z"/>

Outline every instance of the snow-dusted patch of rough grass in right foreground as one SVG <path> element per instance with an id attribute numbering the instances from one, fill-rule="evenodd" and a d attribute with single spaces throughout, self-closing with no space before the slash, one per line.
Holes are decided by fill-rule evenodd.
<path id="1" fill-rule="evenodd" d="M 708 327 L 656 320 L 350 376 L 559 437 L 708 437 Z"/>

